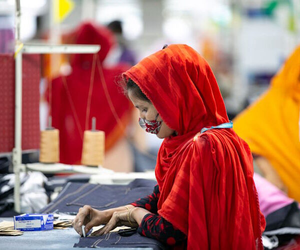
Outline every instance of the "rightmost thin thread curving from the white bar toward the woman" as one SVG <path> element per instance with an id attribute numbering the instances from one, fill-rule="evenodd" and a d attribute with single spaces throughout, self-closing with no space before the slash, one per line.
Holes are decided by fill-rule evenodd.
<path id="1" fill-rule="evenodd" d="M 155 159 L 156 160 L 157 156 L 155 154 L 149 153 L 147 150 L 140 149 L 137 146 L 135 146 L 135 142 L 129 136 L 127 136 L 127 134 L 125 133 L 125 127 L 124 127 L 124 125 L 123 125 L 120 117 L 118 116 L 117 112 L 115 111 L 115 108 L 113 106 L 112 100 L 110 98 L 110 95 L 109 95 L 109 92 L 108 92 L 108 88 L 107 88 L 107 84 L 106 84 L 106 81 L 105 81 L 105 78 L 104 78 L 104 75 L 103 75 L 102 66 L 101 66 L 101 63 L 99 61 L 98 56 L 97 56 L 97 68 L 98 68 L 98 71 L 99 71 L 99 75 L 100 75 L 100 79 L 101 79 L 101 84 L 102 84 L 102 87 L 103 87 L 103 90 L 104 90 L 104 94 L 105 94 L 106 100 L 108 102 L 109 108 L 110 108 L 110 110 L 111 110 L 111 112 L 112 112 L 112 114 L 113 114 L 113 116 L 114 116 L 117 124 L 122 129 L 122 131 L 124 132 L 125 139 L 129 143 L 133 144 L 134 147 L 135 147 L 135 149 L 137 151 L 139 151 L 140 153 L 142 153 L 144 155 L 147 155 L 151 159 Z"/>

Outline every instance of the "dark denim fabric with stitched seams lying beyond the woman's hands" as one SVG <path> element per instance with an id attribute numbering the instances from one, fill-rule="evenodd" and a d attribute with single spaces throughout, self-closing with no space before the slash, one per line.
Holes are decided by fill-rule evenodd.
<path id="1" fill-rule="evenodd" d="M 56 199 L 40 212 L 77 213 L 79 207 L 90 205 L 108 209 L 133 202 L 153 192 L 154 180 L 135 179 L 127 185 L 99 185 L 68 182 Z"/>

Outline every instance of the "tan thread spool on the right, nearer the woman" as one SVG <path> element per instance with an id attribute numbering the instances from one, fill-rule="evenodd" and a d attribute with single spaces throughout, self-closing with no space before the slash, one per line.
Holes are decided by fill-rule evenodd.
<path id="1" fill-rule="evenodd" d="M 81 164 L 88 166 L 103 165 L 105 133 L 96 130 L 96 118 L 92 117 L 92 129 L 85 130 L 83 134 L 83 145 Z"/>

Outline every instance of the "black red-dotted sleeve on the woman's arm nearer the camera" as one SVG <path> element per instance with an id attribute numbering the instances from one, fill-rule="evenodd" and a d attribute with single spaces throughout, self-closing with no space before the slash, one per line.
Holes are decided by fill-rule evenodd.
<path id="1" fill-rule="evenodd" d="M 184 245 L 186 235 L 175 228 L 169 221 L 157 214 L 146 214 L 137 232 L 143 236 L 155 238 L 168 245 Z"/>

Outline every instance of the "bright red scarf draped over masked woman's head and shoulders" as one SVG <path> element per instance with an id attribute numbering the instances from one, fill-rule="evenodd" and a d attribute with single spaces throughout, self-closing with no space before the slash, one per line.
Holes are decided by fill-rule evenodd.
<path id="1" fill-rule="evenodd" d="M 170 45 L 127 70 L 178 135 L 163 140 L 155 174 L 158 214 L 187 235 L 188 249 L 263 249 L 247 144 L 230 128 L 208 63 L 191 47 Z"/>

